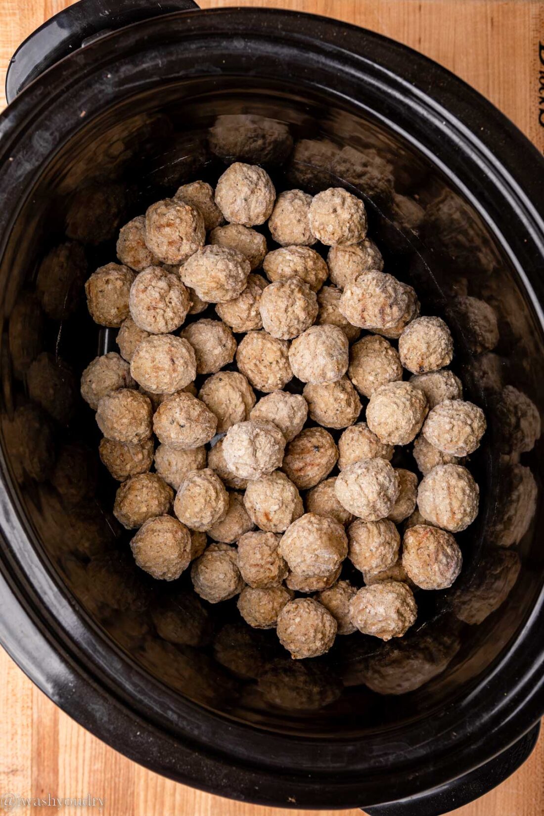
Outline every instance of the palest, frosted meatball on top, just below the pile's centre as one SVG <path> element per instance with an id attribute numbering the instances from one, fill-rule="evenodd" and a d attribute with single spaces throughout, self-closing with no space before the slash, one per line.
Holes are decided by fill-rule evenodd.
<path id="1" fill-rule="evenodd" d="M 248 420 L 232 425 L 223 444 L 228 468 L 242 479 L 259 479 L 281 467 L 285 437 L 272 422 Z"/>

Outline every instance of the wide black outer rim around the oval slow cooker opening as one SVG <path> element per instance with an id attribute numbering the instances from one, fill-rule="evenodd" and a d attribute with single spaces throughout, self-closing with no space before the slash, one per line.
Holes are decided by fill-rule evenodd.
<path id="1" fill-rule="evenodd" d="M 537 151 L 479 95 L 420 55 L 351 26 L 282 11 L 184 12 L 136 24 L 70 55 L 33 82 L 0 119 L 0 184 L 7 201 L 0 212 L 2 252 L 42 167 L 82 119 L 104 109 L 106 100 L 150 88 L 159 69 L 165 83 L 183 77 L 203 54 L 203 39 L 210 63 L 201 65 L 202 72 L 217 71 L 223 55 L 226 67 L 219 71 L 236 63 L 259 77 L 281 66 L 286 78 L 321 84 L 331 100 L 361 108 L 361 89 L 368 95 L 379 89 L 386 98 L 383 121 L 390 118 L 393 130 L 409 130 L 409 140 L 444 164 L 484 219 L 501 225 L 504 246 L 515 247 L 516 258 L 523 259 L 542 324 Z M 164 46 L 175 41 L 187 48 L 173 55 Z M 444 710 L 440 724 L 419 724 L 417 740 L 409 730 L 391 730 L 369 750 L 341 735 L 330 743 L 265 734 L 179 698 L 169 708 L 172 701 L 160 684 L 105 640 L 46 565 L 5 461 L 2 470 L 2 641 L 77 721 L 162 774 L 262 804 L 378 804 L 480 765 L 542 714 L 542 595 L 484 683 Z"/>

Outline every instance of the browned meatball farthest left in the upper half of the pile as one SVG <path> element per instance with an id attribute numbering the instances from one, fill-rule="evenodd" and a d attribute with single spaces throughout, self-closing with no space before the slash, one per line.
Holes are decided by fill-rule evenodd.
<path id="1" fill-rule="evenodd" d="M 130 286 L 135 273 L 127 266 L 106 264 L 85 284 L 87 308 L 95 323 L 118 328 L 129 315 Z"/>

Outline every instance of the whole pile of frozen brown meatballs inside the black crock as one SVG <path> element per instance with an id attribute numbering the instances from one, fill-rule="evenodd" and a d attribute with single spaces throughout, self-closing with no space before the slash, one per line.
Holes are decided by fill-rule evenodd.
<path id="1" fill-rule="evenodd" d="M 167 581 L 190 568 L 212 604 L 237 596 L 294 659 L 356 630 L 403 636 L 414 595 L 461 570 L 454 534 L 479 502 L 464 458 L 485 418 L 447 367 L 448 326 L 383 272 L 364 203 L 276 194 L 236 162 L 215 190 L 184 184 L 126 224 L 117 258 L 86 298 L 120 353 L 81 390 L 136 564 Z M 412 444 L 421 481 L 391 465 Z M 340 579 L 345 559 L 359 582 Z"/>

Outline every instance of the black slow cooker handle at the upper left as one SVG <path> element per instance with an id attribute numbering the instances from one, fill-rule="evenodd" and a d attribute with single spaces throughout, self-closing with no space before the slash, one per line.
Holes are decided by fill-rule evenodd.
<path id="1" fill-rule="evenodd" d="M 79 0 L 47 20 L 15 51 L 7 69 L 6 99 L 14 100 L 40 73 L 102 34 L 172 11 L 195 9 L 194 0 Z"/>

